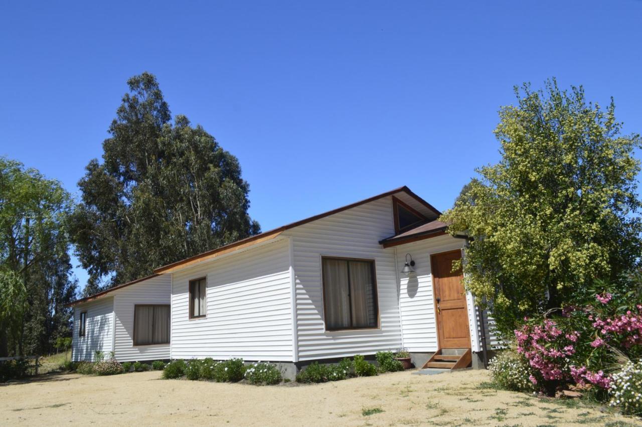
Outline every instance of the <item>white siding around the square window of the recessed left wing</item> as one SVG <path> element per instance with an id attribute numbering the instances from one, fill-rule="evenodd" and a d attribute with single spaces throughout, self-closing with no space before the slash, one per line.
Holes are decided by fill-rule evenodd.
<path id="1" fill-rule="evenodd" d="M 169 344 L 134 346 L 134 305 L 168 304 L 171 275 L 162 274 L 114 292 L 116 335 L 114 352 L 119 362 L 169 359 Z"/>

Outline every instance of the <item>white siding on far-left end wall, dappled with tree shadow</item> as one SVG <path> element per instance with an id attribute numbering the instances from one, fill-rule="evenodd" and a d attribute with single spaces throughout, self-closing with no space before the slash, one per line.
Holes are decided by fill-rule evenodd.
<path id="1" fill-rule="evenodd" d="M 87 311 L 85 336 L 78 336 L 80 313 Z M 102 351 L 105 358 L 114 347 L 114 299 L 105 297 L 97 301 L 78 304 L 74 308 L 74 327 L 71 344 L 72 360 L 93 361 L 96 351 Z"/>

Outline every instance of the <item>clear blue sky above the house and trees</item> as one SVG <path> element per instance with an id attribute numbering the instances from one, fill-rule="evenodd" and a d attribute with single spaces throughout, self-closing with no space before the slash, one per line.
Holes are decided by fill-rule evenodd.
<path id="1" fill-rule="evenodd" d="M 0 155 L 78 196 L 150 71 L 239 158 L 264 230 L 402 185 L 443 210 L 498 160 L 513 85 L 582 84 L 642 132 L 641 22 L 639 0 L 4 2 Z"/>

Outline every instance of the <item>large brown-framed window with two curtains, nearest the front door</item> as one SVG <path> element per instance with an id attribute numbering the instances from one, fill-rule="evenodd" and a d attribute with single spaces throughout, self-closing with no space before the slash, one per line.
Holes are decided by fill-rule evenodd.
<path id="1" fill-rule="evenodd" d="M 325 329 L 378 326 L 374 261 L 322 258 Z"/>

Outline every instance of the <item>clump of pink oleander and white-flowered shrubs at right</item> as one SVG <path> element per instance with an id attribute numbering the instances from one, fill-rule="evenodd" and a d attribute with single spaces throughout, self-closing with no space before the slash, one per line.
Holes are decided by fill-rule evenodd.
<path id="1" fill-rule="evenodd" d="M 525 318 L 514 331 L 517 354 L 491 365 L 498 371 L 491 375 L 525 391 L 528 387 L 523 383 L 528 376 L 535 390 L 551 395 L 560 388 L 579 385 L 590 388 L 596 399 L 609 400 L 612 406 L 626 401 L 623 411 L 639 413 L 642 404 L 636 405 L 642 400 L 642 380 L 623 384 L 630 372 L 641 370 L 642 362 L 632 367 L 622 360 L 642 358 L 641 283 L 642 276 L 614 285 L 596 282 L 593 289 L 583 290 L 564 308 L 551 310 L 542 318 Z M 618 399 L 624 393 L 629 394 L 628 400 Z M 631 399 L 637 399 L 635 405 Z"/>

